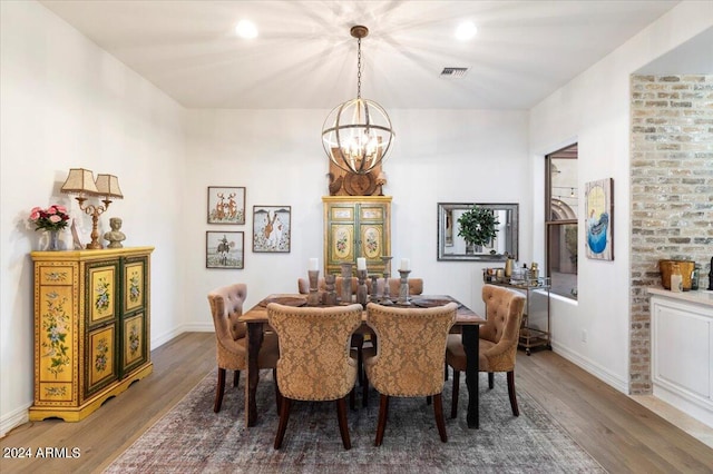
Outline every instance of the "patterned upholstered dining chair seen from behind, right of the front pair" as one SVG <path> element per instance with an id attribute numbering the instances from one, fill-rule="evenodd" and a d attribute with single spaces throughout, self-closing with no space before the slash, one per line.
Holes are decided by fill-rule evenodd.
<path id="1" fill-rule="evenodd" d="M 457 303 L 432 308 L 367 305 L 367 324 L 377 333 L 375 355 L 364 359 L 367 379 L 380 394 L 375 446 L 383 441 L 390 397 L 433 397 L 436 426 L 448 441 L 443 421 L 446 339 L 456 323 Z"/>

